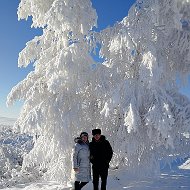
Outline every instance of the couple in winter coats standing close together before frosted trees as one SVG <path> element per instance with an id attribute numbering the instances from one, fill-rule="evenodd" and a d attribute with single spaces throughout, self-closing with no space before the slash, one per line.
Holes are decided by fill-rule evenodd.
<path id="1" fill-rule="evenodd" d="M 75 190 L 80 190 L 91 180 L 91 165 L 94 190 L 98 190 L 101 178 L 101 190 L 106 190 L 109 162 L 113 151 L 108 140 L 101 135 L 100 129 L 92 130 L 92 142 L 88 141 L 88 133 L 82 132 L 75 139 L 73 153 L 73 169 L 75 171 Z"/>

